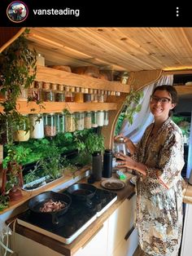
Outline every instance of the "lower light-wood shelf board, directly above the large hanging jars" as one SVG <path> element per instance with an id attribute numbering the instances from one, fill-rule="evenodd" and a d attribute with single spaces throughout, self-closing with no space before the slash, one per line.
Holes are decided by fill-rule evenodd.
<path id="1" fill-rule="evenodd" d="M 62 113 L 63 109 L 69 112 L 84 112 L 98 110 L 116 110 L 116 103 L 76 103 L 76 102 L 44 102 L 40 108 L 35 102 L 18 101 L 17 110 L 22 114 L 28 113 Z M 0 107 L 2 112 L 2 107 Z"/>

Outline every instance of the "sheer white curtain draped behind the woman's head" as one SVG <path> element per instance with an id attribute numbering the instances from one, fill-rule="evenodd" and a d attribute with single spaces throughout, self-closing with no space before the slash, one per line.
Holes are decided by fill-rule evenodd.
<path id="1" fill-rule="evenodd" d="M 164 76 L 159 78 L 157 82 L 151 83 L 149 86 L 144 87 L 143 97 L 141 99 L 142 109 L 139 113 L 136 113 L 133 117 L 133 125 L 130 125 L 128 121 L 124 120 L 120 129 L 120 133 L 126 137 L 129 137 L 133 143 L 138 143 L 142 139 L 142 135 L 146 130 L 146 127 L 154 120 L 149 108 L 150 96 L 157 86 L 170 85 L 172 86 L 173 75 Z"/>

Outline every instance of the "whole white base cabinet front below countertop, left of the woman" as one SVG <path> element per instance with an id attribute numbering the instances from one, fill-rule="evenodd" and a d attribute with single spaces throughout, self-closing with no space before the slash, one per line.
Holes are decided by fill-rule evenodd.
<path id="1" fill-rule="evenodd" d="M 137 231 L 133 227 L 136 196 L 125 199 L 103 227 L 74 256 L 133 256 Z"/>

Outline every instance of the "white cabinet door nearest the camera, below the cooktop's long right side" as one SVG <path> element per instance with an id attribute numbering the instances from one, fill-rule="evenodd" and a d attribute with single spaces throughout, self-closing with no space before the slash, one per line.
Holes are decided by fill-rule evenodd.
<path id="1" fill-rule="evenodd" d="M 107 255 L 107 221 L 74 256 L 106 256 Z"/>

